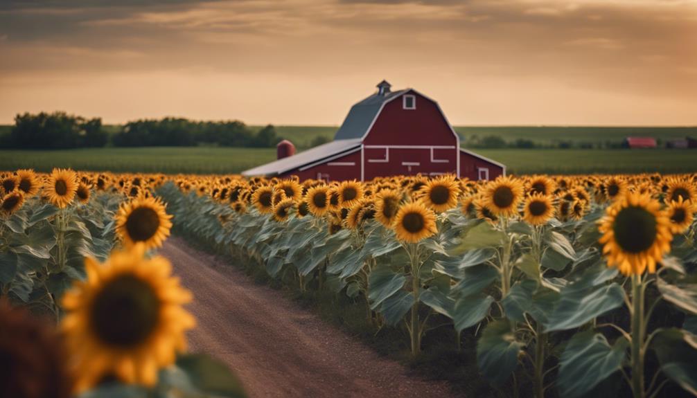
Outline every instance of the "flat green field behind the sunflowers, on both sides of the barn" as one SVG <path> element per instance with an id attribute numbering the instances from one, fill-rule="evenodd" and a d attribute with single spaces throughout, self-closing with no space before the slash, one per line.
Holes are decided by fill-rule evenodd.
<path id="1" fill-rule="evenodd" d="M 697 172 L 697 150 L 477 150 L 507 165 L 508 173 Z M 0 150 L 0 170 L 53 167 L 154 173 L 240 173 L 275 159 L 273 149 L 100 148 Z"/>

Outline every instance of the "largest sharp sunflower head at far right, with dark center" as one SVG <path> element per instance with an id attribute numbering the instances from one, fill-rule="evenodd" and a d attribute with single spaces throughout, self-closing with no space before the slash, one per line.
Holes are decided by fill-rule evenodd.
<path id="1" fill-rule="evenodd" d="M 608 266 L 617 266 L 626 276 L 641 275 L 647 267 L 654 273 L 656 262 L 671 250 L 670 218 L 648 195 L 627 193 L 618 198 L 599 223 Z"/>

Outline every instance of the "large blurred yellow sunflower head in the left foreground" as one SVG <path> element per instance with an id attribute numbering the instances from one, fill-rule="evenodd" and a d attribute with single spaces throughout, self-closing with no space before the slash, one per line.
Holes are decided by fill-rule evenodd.
<path id="1" fill-rule="evenodd" d="M 105 376 L 154 385 L 158 369 L 186 349 L 184 332 L 194 318 L 182 305 L 191 294 L 171 277 L 164 257 L 144 258 L 145 246 L 112 253 L 104 264 L 86 259 L 87 280 L 63 296 L 61 322 L 77 376 L 76 389 Z"/>

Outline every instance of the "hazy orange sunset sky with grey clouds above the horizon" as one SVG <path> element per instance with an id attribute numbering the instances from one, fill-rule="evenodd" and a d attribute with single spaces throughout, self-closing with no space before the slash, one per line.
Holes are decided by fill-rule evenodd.
<path id="1" fill-rule="evenodd" d="M 697 0 L 0 0 L 0 124 L 339 125 L 382 79 L 454 125 L 697 125 Z"/>

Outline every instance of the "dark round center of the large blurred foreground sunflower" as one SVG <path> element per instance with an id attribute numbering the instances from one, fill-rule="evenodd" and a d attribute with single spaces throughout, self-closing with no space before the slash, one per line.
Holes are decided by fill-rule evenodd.
<path id="1" fill-rule="evenodd" d="M 144 342 L 160 320 L 160 298 L 135 276 L 118 276 L 94 298 L 90 311 L 93 332 L 102 342 L 132 347 Z"/>

